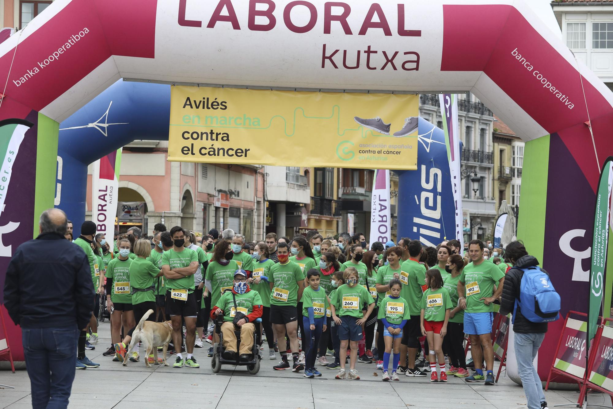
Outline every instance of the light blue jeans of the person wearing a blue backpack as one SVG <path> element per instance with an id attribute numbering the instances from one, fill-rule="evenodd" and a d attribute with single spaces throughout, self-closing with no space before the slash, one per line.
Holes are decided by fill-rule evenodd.
<path id="1" fill-rule="evenodd" d="M 532 363 L 544 338 L 544 333 L 515 333 L 517 369 L 524 386 L 528 409 L 541 409 L 541 402 L 545 402 L 541 378 Z"/>

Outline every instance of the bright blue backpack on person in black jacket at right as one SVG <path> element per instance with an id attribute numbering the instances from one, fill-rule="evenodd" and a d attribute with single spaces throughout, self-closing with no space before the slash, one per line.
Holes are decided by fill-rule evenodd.
<path id="1" fill-rule="evenodd" d="M 552 322 L 560 316 L 560 295 L 555 291 L 549 276 L 538 266 L 522 268 L 524 276 L 519 286 L 519 298 L 515 300 L 513 323 L 517 305 L 530 322 Z"/>

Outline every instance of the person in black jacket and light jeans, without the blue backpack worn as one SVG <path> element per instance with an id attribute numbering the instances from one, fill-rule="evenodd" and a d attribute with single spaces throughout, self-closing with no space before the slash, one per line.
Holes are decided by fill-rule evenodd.
<path id="1" fill-rule="evenodd" d="M 526 247 L 520 241 L 513 241 L 506 246 L 505 258 L 513 267 L 506 273 L 500 303 L 500 314 L 512 313 L 516 299 L 519 299 L 520 283 L 524 276 L 522 268 L 538 265 L 535 257 L 528 255 Z M 533 360 L 547 332 L 547 322 L 531 322 L 522 315 L 519 305 L 513 314 L 514 348 L 519 376 L 522 379 L 528 409 L 547 408 L 541 378 L 533 365 Z"/>

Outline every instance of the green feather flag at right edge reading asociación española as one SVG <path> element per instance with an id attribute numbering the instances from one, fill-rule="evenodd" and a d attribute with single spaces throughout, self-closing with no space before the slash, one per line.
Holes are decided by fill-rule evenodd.
<path id="1" fill-rule="evenodd" d="M 609 241 L 609 206 L 611 204 L 612 182 L 613 157 L 608 157 L 604 162 L 600 181 L 598 181 L 598 190 L 596 191 L 592 268 L 590 268 L 590 308 L 587 314 L 588 345 L 596 335 L 600 306 L 603 303 L 604 267 L 607 262 L 607 244 Z"/>

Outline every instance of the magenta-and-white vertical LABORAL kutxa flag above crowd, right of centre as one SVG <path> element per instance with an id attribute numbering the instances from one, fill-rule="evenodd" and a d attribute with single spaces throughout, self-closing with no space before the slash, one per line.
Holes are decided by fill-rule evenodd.
<path id="1" fill-rule="evenodd" d="M 373 180 L 373 197 L 370 203 L 370 241 L 385 244 L 390 238 L 389 170 L 376 169 Z"/>

